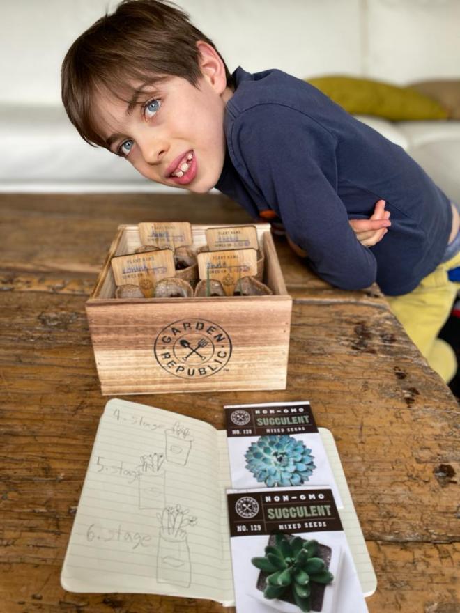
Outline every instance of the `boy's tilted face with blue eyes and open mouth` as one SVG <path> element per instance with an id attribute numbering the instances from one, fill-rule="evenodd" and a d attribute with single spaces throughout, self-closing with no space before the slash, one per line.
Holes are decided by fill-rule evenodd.
<path id="1" fill-rule="evenodd" d="M 168 77 L 144 91 L 129 112 L 127 102 L 102 95 L 96 100 L 99 131 L 110 150 L 156 183 L 208 192 L 224 166 L 231 90 L 205 72 L 198 87 Z"/>

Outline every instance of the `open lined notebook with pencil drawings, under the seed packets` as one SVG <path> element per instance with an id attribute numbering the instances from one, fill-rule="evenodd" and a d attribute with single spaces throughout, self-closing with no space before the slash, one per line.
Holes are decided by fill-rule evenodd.
<path id="1" fill-rule="evenodd" d="M 331 433 L 319 428 L 365 596 L 376 577 Z M 73 592 L 158 593 L 234 604 L 227 436 L 118 398 L 100 419 L 61 572 Z"/>

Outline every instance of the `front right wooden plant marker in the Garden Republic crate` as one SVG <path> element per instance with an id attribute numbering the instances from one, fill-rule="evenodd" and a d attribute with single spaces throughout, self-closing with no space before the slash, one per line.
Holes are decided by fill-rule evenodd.
<path id="1" fill-rule="evenodd" d="M 239 279 L 257 274 L 256 249 L 202 251 L 197 259 L 199 278 L 220 281 L 227 296 L 233 296 Z"/>

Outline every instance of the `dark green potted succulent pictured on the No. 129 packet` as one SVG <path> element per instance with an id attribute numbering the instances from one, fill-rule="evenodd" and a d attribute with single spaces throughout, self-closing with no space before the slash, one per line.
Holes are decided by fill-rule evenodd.
<path id="1" fill-rule="evenodd" d="M 252 596 L 286 613 L 334 611 L 333 594 L 325 593 L 325 589 L 335 577 L 330 572 L 331 563 L 337 577 L 339 558 L 337 552 L 332 561 L 332 548 L 314 539 L 306 541 L 291 534 L 273 534 L 268 539 L 265 555 L 251 560 L 260 571 L 257 592 Z"/>

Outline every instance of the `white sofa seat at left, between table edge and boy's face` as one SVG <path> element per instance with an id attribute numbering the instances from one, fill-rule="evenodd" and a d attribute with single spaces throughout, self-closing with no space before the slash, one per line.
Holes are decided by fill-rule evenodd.
<path id="1" fill-rule="evenodd" d="M 42 191 L 40 185 L 59 190 L 74 184 L 96 190 L 103 185 L 109 191 L 171 191 L 159 189 L 127 160 L 85 143 L 62 107 L 2 106 L 0 134 L 0 191 Z"/>

